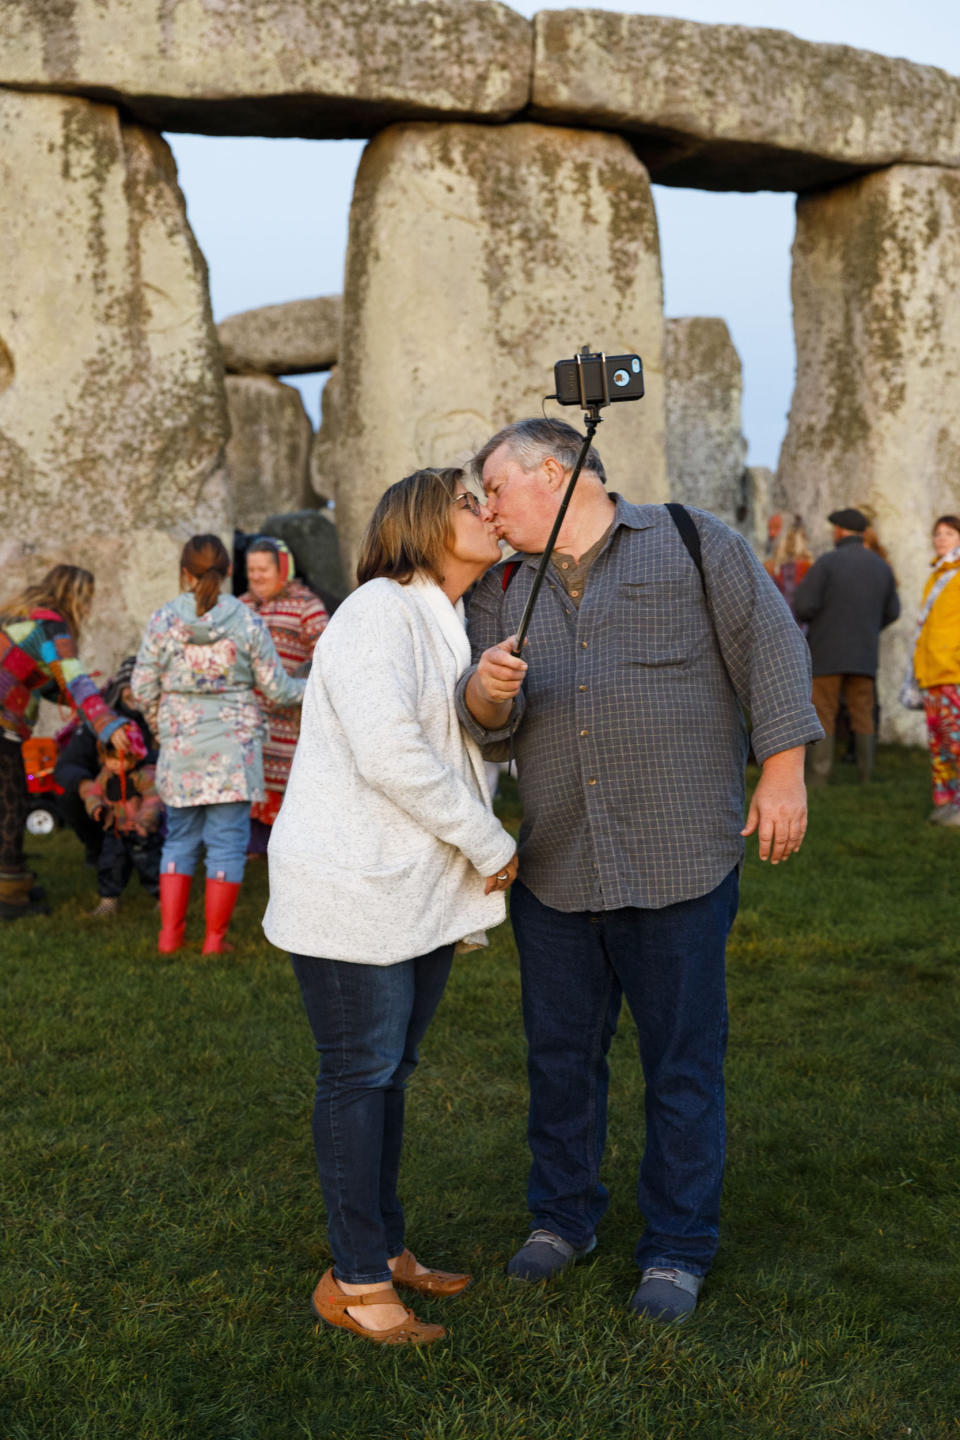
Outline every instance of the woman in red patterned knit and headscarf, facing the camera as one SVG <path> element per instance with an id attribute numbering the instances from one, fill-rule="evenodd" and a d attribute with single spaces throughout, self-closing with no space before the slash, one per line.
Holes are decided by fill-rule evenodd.
<path id="1" fill-rule="evenodd" d="M 288 675 L 309 660 L 330 619 L 324 602 L 296 579 L 294 556 L 282 540 L 258 536 L 246 552 L 249 590 L 240 599 L 261 616 Z M 261 698 L 258 696 L 258 698 Z M 289 768 L 299 734 L 299 706 L 281 708 L 262 701 L 263 739 L 262 801 L 250 806 L 250 854 L 266 852 L 271 825 L 286 789 Z"/>

